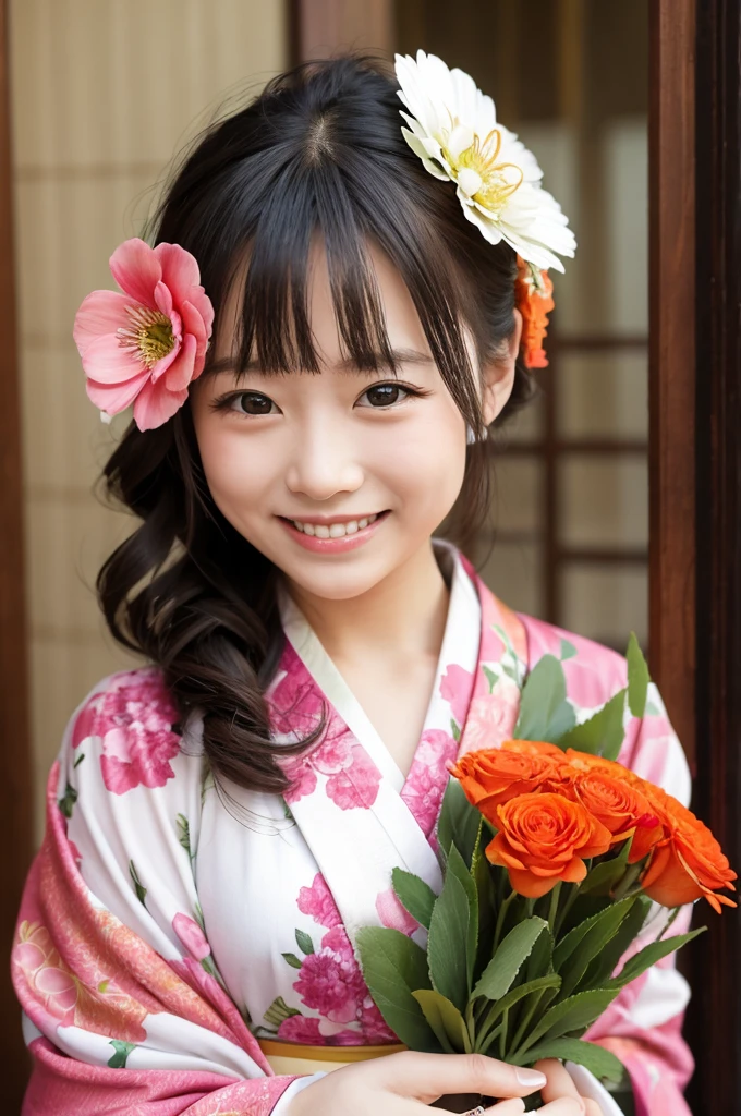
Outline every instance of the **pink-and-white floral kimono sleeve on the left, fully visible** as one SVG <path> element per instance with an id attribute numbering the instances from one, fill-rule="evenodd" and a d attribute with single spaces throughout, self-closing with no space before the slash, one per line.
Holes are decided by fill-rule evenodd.
<path id="1" fill-rule="evenodd" d="M 189 732 L 155 667 L 105 679 L 67 725 L 11 956 L 25 1116 L 277 1116 L 310 1080 L 272 1074 L 211 952 Z"/>

